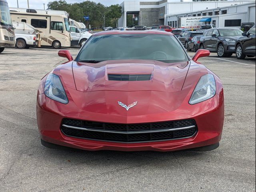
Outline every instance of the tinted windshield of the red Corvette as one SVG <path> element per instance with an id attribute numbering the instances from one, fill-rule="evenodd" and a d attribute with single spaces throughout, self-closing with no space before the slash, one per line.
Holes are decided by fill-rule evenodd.
<path id="1" fill-rule="evenodd" d="M 162 34 L 92 36 L 78 54 L 76 61 L 128 59 L 156 60 L 165 63 L 188 61 L 178 40 L 174 36 Z"/>

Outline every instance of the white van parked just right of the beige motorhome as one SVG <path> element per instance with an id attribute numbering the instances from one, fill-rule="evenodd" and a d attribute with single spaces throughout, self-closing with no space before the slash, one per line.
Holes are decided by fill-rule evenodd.
<path id="1" fill-rule="evenodd" d="M 89 32 L 83 32 L 76 26 L 70 26 L 70 35 L 72 38 L 71 45 L 80 45 L 80 47 L 82 47 L 87 39 L 92 36 Z"/>

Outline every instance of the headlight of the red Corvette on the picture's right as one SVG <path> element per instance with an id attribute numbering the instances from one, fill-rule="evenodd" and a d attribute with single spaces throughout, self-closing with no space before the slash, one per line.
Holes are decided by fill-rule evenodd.
<path id="1" fill-rule="evenodd" d="M 203 75 L 198 81 L 194 92 L 189 100 L 193 105 L 212 98 L 216 94 L 216 83 L 212 74 Z"/>

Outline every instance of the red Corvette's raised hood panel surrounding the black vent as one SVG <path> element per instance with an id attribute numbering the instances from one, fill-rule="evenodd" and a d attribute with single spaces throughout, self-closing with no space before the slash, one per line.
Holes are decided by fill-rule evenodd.
<path id="1" fill-rule="evenodd" d="M 152 60 L 109 60 L 97 64 L 73 62 L 76 90 L 93 92 L 162 91 L 178 92 L 186 79 L 190 62 L 166 64 Z M 109 74 L 149 75 L 150 80 L 108 80 Z"/>

